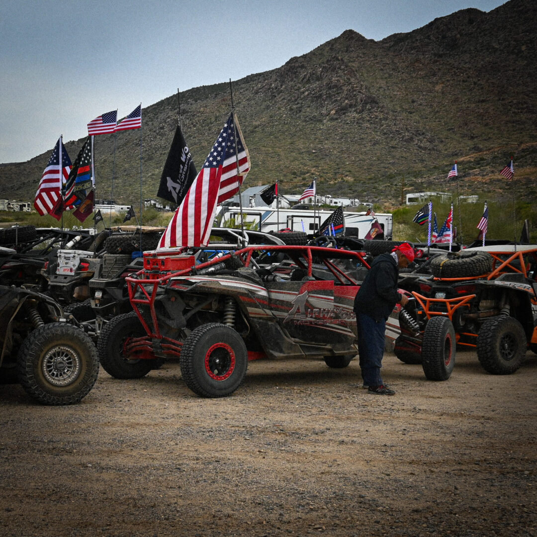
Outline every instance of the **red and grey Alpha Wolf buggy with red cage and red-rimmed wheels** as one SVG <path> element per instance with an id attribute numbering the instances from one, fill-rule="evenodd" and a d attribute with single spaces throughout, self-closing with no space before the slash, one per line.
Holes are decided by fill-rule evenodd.
<path id="1" fill-rule="evenodd" d="M 357 354 L 353 274 L 368 267 L 361 253 L 250 245 L 197 264 L 205 255 L 144 254 L 143 270 L 126 278 L 134 311 L 99 337 L 105 371 L 140 378 L 159 358 L 178 358 L 189 388 L 221 397 L 240 386 L 248 360 L 307 357 L 343 368 Z M 400 333 L 397 313 L 398 306 L 387 323 L 391 340 Z"/>

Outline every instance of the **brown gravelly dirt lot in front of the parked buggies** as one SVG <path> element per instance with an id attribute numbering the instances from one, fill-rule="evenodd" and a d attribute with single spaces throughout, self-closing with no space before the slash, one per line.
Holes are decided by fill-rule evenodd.
<path id="1" fill-rule="evenodd" d="M 384 358 L 252 362 L 220 400 L 179 365 L 137 381 L 102 369 L 71 407 L 0 387 L 0 534 L 537 535 L 537 357 L 514 375 L 458 353 L 447 382 Z"/>

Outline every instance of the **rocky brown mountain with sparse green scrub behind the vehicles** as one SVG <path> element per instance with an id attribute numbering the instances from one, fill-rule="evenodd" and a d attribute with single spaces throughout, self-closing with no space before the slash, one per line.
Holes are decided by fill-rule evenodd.
<path id="1" fill-rule="evenodd" d="M 465 9 L 373 41 L 347 30 L 284 66 L 233 82 L 252 169 L 245 186 L 396 205 L 405 192 L 511 195 L 499 171 L 514 156 L 517 188 L 537 194 L 537 2 Z M 180 93 L 199 169 L 231 107 L 228 82 Z M 143 108 L 142 191 L 155 197 L 177 124 L 177 95 Z M 66 143 L 74 160 L 83 140 Z M 140 130 L 95 138 L 97 197 L 140 198 Z M 52 148 L 51 150 L 52 151 Z M 33 199 L 50 151 L 0 166 L 3 198 Z M 113 172 L 113 185 L 112 185 Z"/>

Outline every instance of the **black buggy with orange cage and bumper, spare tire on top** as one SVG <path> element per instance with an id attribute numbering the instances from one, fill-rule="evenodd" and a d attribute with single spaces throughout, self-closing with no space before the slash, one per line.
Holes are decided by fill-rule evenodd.
<path id="1" fill-rule="evenodd" d="M 528 345 L 537 352 L 537 246 L 466 249 L 434 257 L 431 270 L 428 277 L 400 280 L 415 300 L 400 315 L 398 358 L 425 364 L 425 338 L 447 320 L 457 344 L 475 349 L 489 373 L 517 371 Z"/>

